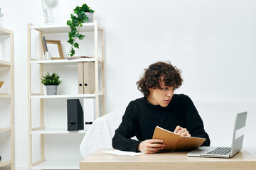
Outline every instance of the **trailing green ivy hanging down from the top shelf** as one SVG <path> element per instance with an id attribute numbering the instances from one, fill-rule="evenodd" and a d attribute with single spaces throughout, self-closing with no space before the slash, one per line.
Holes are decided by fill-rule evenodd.
<path id="1" fill-rule="evenodd" d="M 78 42 L 75 42 L 76 38 L 82 40 L 85 37 L 85 35 L 79 33 L 80 28 L 82 27 L 82 23 L 85 23 L 89 19 L 85 12 L 94 13 L 95 11 L 87 6 L 87 4 L 76 6 L 73 10 L 73 13 L 71 13 L 71 20 L 67 21 L 67 25 L 70 26 L 70 32 L 68 33 L 68 43 L 71 45 L 70 50 L 68 51 L 68 55 L 71 57 L 75 55 L 74 48 L 79 48 Z M 66 57 L 68 57 L 68 55 L 66 55 Z"/>

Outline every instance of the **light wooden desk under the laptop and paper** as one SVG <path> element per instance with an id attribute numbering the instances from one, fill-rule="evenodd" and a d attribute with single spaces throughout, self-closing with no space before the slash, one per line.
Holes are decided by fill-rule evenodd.
<path id="1" fill-rule="evenodd" d="M 241 151 L 233 158 L 198 158 L 187 157 L 187 152 L 168 152 L 158 154 L 139 154 L 137 156 L 118 156 L 114 154 L 97 152 L 90 154 L 82 162 L 80 162 L 80 170 L 97 170 L 97 169 L 118 169 L 118 170 L 133 170 L 133 169 L 157 169 L 157 170 L 244 170 L 256 169 L 256 157 L 253 157 L 246 151 Z"/>

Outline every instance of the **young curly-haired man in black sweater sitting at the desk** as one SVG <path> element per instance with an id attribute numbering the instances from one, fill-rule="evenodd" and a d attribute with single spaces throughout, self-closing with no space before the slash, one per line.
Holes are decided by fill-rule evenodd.
<path id="1" fill-rule="evenodd" d="M 210 139 L 191 98 L 174 94 L 182 81 L 181 71 L 169 62 L 156 62 L 145 69 L 144 76 L 137 81 L 144 97 L 131 101 L 127 106 L 112 146 L 146 154 L 159 152 L 164 149 L 163 141 L 151 139 L 156 126 L 182 136 L 204 137 L 206 141 L 202 146 L 209 146 Z M 138 140 L 132 140 L 134 136 Z"/>

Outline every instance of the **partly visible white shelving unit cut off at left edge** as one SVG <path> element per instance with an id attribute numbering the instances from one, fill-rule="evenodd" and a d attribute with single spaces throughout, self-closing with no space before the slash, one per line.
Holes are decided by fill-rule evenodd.
<path id="1" fill-rule="evenodd" d="M 14 33 L 0 26 L 1 57 L 0 81 L 6 92 L 0 89 L 0 168 L 10 166 L 14 170 Z M 5 43 L 6 42 L 6 43 Z M 8 46 L 8 51 L 5 51 Z M 6 76 L 7 75 L 7 76 Z M 4 105 L 1 103 L 5 103 Z M 7 126 L 7 127 L 6 127 Z"/>

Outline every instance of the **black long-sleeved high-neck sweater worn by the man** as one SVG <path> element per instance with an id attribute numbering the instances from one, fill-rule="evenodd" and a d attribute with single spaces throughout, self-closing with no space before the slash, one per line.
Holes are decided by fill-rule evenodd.
<path id="1" fill-rule="evenodd" d="M 137 146 L 153 137 L 154 129 L 160 126 L 174 132 L 176 126 L 186 128 L 192 137 L 204 137 L 202 146 L 209 146 L 210 139 L 191 98 L 174 94 L 167 107 L 152 105 L 144 98 L 131 101 L 122 117 L 122 123 L 115 131 L 112 146 L 123 151 L 138 152 Z M 136 136 L 137 140 L 130 139 Z"/>

